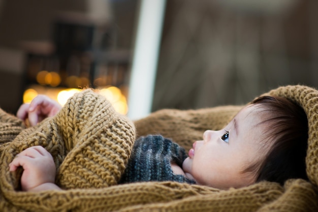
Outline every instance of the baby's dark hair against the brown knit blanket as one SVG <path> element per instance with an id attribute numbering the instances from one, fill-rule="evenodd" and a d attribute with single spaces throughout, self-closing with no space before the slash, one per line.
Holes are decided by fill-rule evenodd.
<path id="1" fill-rule="evenodd" d="M 272 145 L 261 165 L 253 164 L 245 171 L 256 171 L 256 182 L 267 180 L 282 185 L 290 178 L 308 179 L 305 164 L 308 120 L 303 108 L 288 99 L 272 96 L 260 97 L 251 104 L 266 113 L 268 118 L 260 124 L 267 125 L 264 138 Z"/>

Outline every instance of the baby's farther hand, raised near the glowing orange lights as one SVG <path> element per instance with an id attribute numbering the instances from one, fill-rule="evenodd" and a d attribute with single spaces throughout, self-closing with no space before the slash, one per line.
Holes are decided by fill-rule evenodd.
<path id="1" fill-rule="evenodd" d="M 25 103 L 20 106 L 17 117 L 28 119 L 30 126 L 36 126 L 47 117 L 56 115 L 61 109 L 61 105 L 45 95 L 38 95 L 31 103 Z"/>

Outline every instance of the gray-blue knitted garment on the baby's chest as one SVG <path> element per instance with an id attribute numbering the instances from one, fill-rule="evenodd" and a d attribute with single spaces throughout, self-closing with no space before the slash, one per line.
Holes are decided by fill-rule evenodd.
<path id="1" fill-rule="evenodd" d="M 171 162 L 182 167 L 187 157 L 184 148 L 161 135 L 148 135 L 135 141 L 132 155 L 119 184 L 141 181 L 178 181 L 195 184 L 183 175 L 174 174 Z"/>

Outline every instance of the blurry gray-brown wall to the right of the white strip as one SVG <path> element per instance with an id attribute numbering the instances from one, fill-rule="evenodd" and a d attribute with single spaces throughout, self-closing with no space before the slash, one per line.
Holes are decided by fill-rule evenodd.
<path id="1" fill-rule="evenodd" d="M 318 86 L 318 1 L 169 0 L 153 110 L 245 104 Z"/>

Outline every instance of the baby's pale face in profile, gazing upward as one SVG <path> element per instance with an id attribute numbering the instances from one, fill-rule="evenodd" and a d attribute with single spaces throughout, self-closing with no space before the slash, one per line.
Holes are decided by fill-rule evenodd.
<path id="1" fill-rule="evenodd" d="M 240 188 L 255 182 L 255 173 L 243 173 L 249 165 L 262 161 L 269 144 L 262 143 L 266 125 L 254 105 L 243 108 L 222 130 L 207 130 L 196 141 L 183 162 L 187 176 L 199 185 L 219 189 Z"/>

